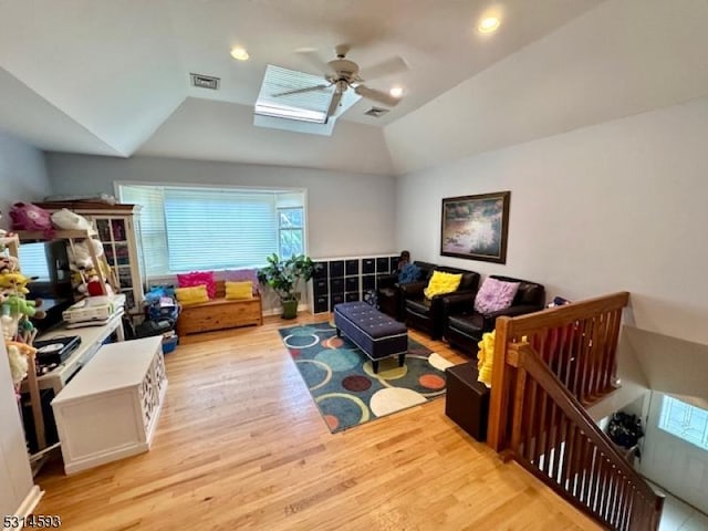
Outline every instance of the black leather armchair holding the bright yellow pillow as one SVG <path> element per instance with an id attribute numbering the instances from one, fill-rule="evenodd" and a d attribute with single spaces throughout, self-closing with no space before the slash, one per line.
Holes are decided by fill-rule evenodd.
<path id="1" fill-rule="evenodd" d="M 406 324 L 427 332 L 433 340 L 439 340 L 442 337 L 447 315 L 445 313 L 445 300 L 452 295 L 466 295 L 475 300 L 475 294 L 479 288 L 479 273 L 445 266 L 437 267 L 435 270 L 446 273 L 461 273 L 462 279 L 457 291 L 426 299 L 423 290 L 428 285 L 427 280 L 425 282 L 404 284 L 400 289 L 404 298 Z"/>

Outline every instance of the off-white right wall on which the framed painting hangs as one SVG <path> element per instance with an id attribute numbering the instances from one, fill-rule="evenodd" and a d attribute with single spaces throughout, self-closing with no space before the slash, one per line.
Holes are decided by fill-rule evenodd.
<path id="1" fill-rule="evenodd" d="M 628 290 L 629 324 L 707 344 L 706 138 L 704 97 L 408 175 L 397 241 L 549 296 Z M 497 190 L 511 190 L 507 264 L 440 258 L 440 200 Z"/>

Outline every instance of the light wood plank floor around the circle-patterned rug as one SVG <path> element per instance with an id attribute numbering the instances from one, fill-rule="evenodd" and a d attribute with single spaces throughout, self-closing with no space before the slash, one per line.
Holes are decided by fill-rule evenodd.
<path id="1" fill-rule="evenodd" d="M 152 450 L 72 477 L 45 465 L 35 513 L 91 531 L 600 529 L 460 430 L 444 398 L 331 435 L 278 334 L 292 324 L 184 341 Z"/>

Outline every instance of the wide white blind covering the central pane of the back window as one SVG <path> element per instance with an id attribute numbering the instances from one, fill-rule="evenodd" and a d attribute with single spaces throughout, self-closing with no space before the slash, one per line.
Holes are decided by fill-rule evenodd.
<path id="1" fill-rule="evenodd" d="M 170 271 L 262 264 L 278 252 L 272 192 L 165 189 Z"/>

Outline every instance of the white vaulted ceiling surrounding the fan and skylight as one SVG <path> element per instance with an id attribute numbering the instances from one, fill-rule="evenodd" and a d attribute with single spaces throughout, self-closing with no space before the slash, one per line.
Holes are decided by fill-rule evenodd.
<path id="1" fill-rule="evenodd" d="M 385 126 L 600 3 L 0 0 L 0 129 L 44 150 L 393 174 Z M 477 23 L 490 12 L 501 27 L 482 35 Z M 407 72 L 367 82 L 402 85 L 403 101 L 376 118 L 363 98 L 332 137 L 253 126 L 267 64 L 316 74 L 295 51 L 330 60 L 337 44 L 351 46 L 364 77 L 366 66 L 403 58 Z M 236 45 L 251 59 L 231 59 Z M 219 91 L 190 86 L 190 73 L 220 77 Z"/>

